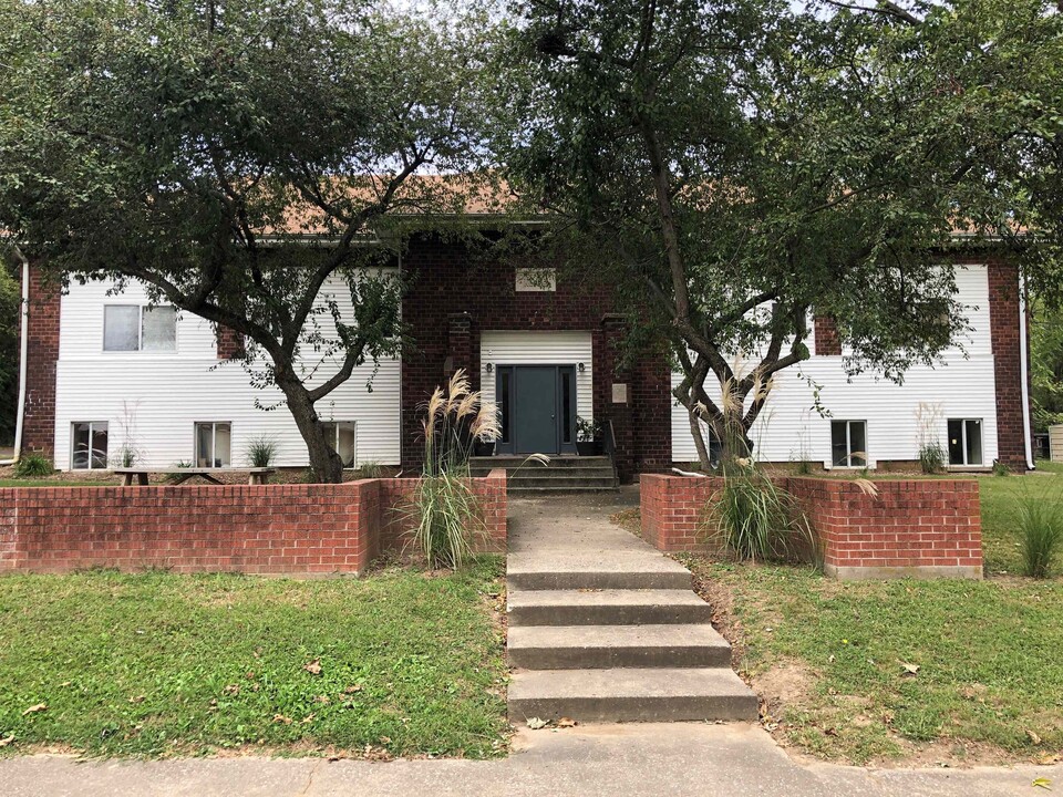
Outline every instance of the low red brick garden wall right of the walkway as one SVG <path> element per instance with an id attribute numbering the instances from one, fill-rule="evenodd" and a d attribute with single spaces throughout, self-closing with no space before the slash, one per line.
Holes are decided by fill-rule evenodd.
<path id="1" fill-rule="evenodd" d="M 982 577 L 978 482 L 878 480 L 877 496 L 852 480 L 783 477 L 823 545 L 824 569 L 842 579 Z M 642 536 L 660 550 L 704 552 L 705 507 L 721 478 L 643 474 Z"/>

